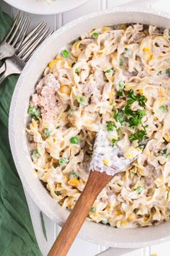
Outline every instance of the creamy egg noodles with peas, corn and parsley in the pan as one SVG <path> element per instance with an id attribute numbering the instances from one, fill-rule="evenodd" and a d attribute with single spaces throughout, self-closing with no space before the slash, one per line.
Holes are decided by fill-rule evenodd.
<path id="1" fill-rule="evenodd" d="M 169 84 L 169 30 L 152 25 L 97 28 L 50 61 L 30 98 L 27 135 L 35 174 L 63 208 L 84 189 L 102 125 L 112 147 L 136 160 L 104 187 L 88 219 L 117 228 L 169 220 Z"/>

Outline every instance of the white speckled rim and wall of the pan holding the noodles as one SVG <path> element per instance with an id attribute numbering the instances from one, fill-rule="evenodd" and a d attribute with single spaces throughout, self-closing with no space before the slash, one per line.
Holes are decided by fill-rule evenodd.
<path id="1" fill-rule="evenodd" d="M 14 90 L 9 114 L 9 140 L 17 171 L 32 200 L 51 220 L 56 221 L 60 226 L 67 218 L 68 210 L 61 208 L 58 202 L 50 197 L 40 180 L 33 174 L 32 161 L 27 148 L 25 127 L 27 126 L 27 109 L 30 95 L 34 92 L 35 84 L 48 62 L 63 46 L 94 27 L 126 22 L 140 22 L 170 28 L 169 14 L 156 10 L 147 11 L 146 9 L 135 8 L 117 8 L 73 20 L 73 22 L 53 33 L 38 48 L 28 61 Z M 79 236 L 90 242 L 109 247 L 146 247 L 170 239 L 170 221 L 158 226 L 138 229 L 115 229 L 111 226 L 86 221 L 79 232 Z"/>

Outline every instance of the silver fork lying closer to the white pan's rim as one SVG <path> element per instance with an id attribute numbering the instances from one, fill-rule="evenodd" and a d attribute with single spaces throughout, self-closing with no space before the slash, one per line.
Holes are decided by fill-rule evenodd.
<path id="1" fill-rule="evenodd" d="M 40 34 L 41 29 L 37 33 L 33 33 L 32 37 L 19 48 L 19 51 L 17 51 L 16 54 L 14 54 L 9 59 L 6 59 L 6 61 L 0 68 L 0 85 L 1 82 L 3 82 L 10 74 L 21 74 L 22 69 L 24 69 L 24 65 L 26 64 L 28 59 L 30 59 L 30 56 L 32 56 L 35 49 L 40 46 L 40 43 L 42 43 L 45 38 L 53 33 L 53 31 L 48 33 L 49 30 L 50 28 L 48 30 L 45 30 L 45 32 L 43 32 L 42 34 Z"/>

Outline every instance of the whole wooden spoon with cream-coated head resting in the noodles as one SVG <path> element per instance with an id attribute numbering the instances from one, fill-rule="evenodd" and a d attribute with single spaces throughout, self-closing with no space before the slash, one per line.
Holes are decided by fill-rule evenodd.
<path id="1" fill-rule="evenodd" d="M 134 159 L 126 159 L 120 148 L 110 145 L 106 133 L 103 130 L 99 131 L 94 143 L 89 179 L 48 256 L 66 256 L 99 192 L 115 174 L 123 171 Z M 106 166 L 104 162 L 110 164 Z M 102 170 L 104 171 L 101 172 Z"/>

